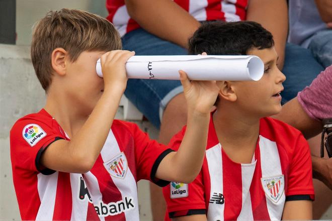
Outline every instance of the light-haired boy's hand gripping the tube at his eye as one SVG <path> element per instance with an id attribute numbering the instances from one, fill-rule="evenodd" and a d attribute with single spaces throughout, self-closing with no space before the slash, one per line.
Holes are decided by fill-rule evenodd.
<path id="1" fill-rule="evenodd" d="M 128 78 L 125 64 L 134 54 L 134 51 L 114 50 L 101 56 L 104 90 L 118 89 L 123 92 L 126 89 Z"/>

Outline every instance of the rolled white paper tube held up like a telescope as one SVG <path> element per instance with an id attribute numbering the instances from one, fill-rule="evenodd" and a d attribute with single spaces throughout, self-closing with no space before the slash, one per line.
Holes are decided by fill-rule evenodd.
<path id="1" fill-rule="evenodd" d="M 100 59 L 96 69 L 102 77 Z M 242 55 L 133 56 L 126 63 L 128 78 L 179 80 L 179 70 L 191 80 L 259 80 L 264 63 Z"/>

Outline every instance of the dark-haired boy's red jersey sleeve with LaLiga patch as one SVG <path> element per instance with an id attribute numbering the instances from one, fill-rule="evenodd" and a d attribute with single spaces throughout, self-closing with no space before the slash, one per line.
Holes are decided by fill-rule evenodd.
<path id="1" fill-rule="evenodd" d="M 186 127 L 172 138 L 169 146 L 173 150 L 179 149 L 185 131 Z M 203 166 L 206 163 L 205 161 L 206 159 L 204 159 Z M 201 170 L 196 179 L 189 184 L 171 182 L 169 185 L 162 188 L 167 203 L 167 215 L 170 218 L 184 215 L 206 214 L 202 173 Z"/>

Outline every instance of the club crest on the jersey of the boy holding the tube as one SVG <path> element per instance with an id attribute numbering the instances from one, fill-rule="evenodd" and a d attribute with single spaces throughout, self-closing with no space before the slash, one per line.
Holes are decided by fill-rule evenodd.
<path id="1" fill-rule="evenodd" d="M 117 178 L 124 178 L 128 170 L 128 163 L 123 152 L 114 157 L 112 160 L 104 163 L 106 170 Z"/>

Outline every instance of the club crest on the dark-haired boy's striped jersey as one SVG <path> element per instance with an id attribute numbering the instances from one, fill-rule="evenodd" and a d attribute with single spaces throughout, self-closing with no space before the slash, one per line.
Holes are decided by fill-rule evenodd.
<path id="1" fill-rule="evenodd" d="M 284 175 L 263 177 L 261 181 L 265 194 L 272 199 L 273 202 L 277 203 L 284 192 Z"/>

